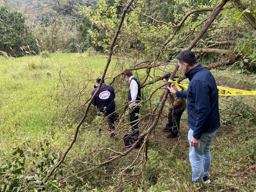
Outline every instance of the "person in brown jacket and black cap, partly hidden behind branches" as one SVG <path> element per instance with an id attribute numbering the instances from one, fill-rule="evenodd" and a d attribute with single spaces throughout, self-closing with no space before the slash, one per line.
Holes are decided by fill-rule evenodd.
<path id="1" fill-rule="evenodd" d="M 164 84 L 167 84 L 170 76 L 171 76 L 170 73 L 163 76 L 162 79 L 164 81 Z M 174 84 L 172 84 L 172 88 L 174 90 L 178 91 L 178 89 L 175 87 Z M 169 95 L 167 97 L 167 99 L 169 101 L 168 123 L 165 125 L 165 128 L 162 129 L 162 131 L 166 131 L 166 132 L 171 131 L 171 134 L 167 135 L 168 139 L 177 137 L 177 135 L 180 131 L 180 118 L 182 116 L 182 113 L 187 108 L 185 98 L 177 97 L 176 94 L 172 94 L 172 93 L 171 93 L 171 95 L 172 95 L 172 97 L 171 97 L 172 101 L 171 101 Z M 173 102 L 173 107 L 174 107 L 173 116 L 172 116 L 172 110 L 173 110 L 172 102 Z M 178 126 L 176 125 L 175 121 L 177 122 Z"/>

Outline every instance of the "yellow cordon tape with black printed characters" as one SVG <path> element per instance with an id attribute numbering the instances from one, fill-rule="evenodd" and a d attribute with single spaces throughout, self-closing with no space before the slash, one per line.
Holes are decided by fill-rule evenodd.
<path id="1" fill-rule="evenodd" d="M 180 87 L 183 87 L 184 89 L 188 89 L 188 84 L 177 83 L 177 81 L 172 81 L 171 79 L 169 79 L 168 82 L 173 83 L 175 87 L 178 89 L 178 91 L 182 91 Z M 222 95 L 222 96 L 256 95 L 256 91 L 246 91 L 242 89 L 233 89 L 233 88 L 220 87 L 220 86 L 217 86 L 217 88 L 219 91 L 219 95 Z"/>

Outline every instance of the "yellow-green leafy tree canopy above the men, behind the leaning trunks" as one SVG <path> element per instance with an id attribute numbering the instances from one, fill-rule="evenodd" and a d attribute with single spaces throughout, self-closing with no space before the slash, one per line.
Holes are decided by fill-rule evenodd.
<path id="1" fill-rule="evenodd" d="M 218 3 L 211 1 L 209 4 L 204 0 L 136 1 L 125 18 L 115 53 L 125 52 L 132 57 L 143 54 L 157 57 L 159 61 L 174 58 L 177 52 L 193 41 L 209 16 L 211 7 Z M 92 45 L 97 49 L 108 52 L 121 15 L 118 10 L 124 4 L 118 0 L 100 0 L 96 9 L 80 7 L 87 24 L 81 25 L 79 30 L 90 36 Z M 199 58 L 204 57 L 208 64 L 221 61 L 225 56 L 227 62 L 231 61 L 229 64 L 254 71 L 255 6 L 251 1 L 228 3 L 196 45 L 197 49 L 207 48 L 203 51 L 194 50 L 200 53 Z M 251 49 L 246 49 L 244 45 L 249 42 Z M 236 56 L 233 54 L 231 58 L 231 52 L 236 53 Z"/>

